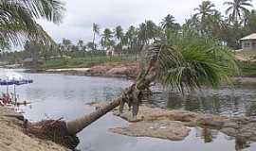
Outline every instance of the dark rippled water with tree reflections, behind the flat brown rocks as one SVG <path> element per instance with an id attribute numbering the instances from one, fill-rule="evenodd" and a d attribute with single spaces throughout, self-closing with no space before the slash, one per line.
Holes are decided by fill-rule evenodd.
<path id="1" fill-rule="evenodd" d="M 219 91 L 204 89 L 181 95 L 177 92 L 154 94 L 151 103 L 167 109 L 185 109 L 213 114 L 256 115 L 256 89 L 222 88 Z"/>

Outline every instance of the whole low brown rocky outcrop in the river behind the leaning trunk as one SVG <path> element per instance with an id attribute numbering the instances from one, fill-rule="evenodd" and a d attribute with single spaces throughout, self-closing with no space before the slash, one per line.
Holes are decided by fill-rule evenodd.
<path id="1" fill-rule="evenodd" d="M 103 104 L 94 103 L 91 105 L 100 109 Z M 121 114 L 119 109 L 115 109 L 114 115 L 129 121 L 131 124 L 110 130 L 128 136 L 147 136 L 180 141 L 189 135 L 188 126 L 201 126 L 218 129 L 232 137 L 256 142 L 255 117 L 227 117 L 187 110 L 154 109 L 146 106 L 140 107 L 137 118 L 132 116 L 127 107 Z"/>

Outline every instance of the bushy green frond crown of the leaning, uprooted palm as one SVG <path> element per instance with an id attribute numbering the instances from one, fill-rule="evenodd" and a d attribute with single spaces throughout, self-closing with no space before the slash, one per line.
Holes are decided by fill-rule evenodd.
<path id="1" fill-rule="evenodd" d="M 216 88 L 239 73 L 227 47 L 192 31 L 170 36 L 168 42 L 157 42 L 148 51 L 150 60 L 155 60 L 157 80 L 180 92 L 204 85 Z"/>

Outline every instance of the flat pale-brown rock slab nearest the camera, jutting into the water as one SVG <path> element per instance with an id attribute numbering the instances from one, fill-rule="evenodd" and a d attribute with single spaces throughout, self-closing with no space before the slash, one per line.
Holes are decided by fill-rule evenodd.
<path id="1" fill-rule="evenodd" d="M 181 122 L 155 121 L 133 123 L 126 127 L 111 128 L 110 131 L 135 137 L 153 137 L 171 141 L 182 141 L 189 135 L 191 129 L 184 126 Z"/>

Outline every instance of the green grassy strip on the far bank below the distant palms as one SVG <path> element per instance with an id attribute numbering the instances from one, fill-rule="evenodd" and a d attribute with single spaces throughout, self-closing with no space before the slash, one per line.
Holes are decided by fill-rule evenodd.
<path id="1" fill-rule="evenodd" d="M 88 68 L 94 65 L 99 65 L 108 62 L 127 62 L 135 58 L 128 57 L 84 57 L 84 58 L 72 58 L 72 59 L 47 59 L 42 64 L 40 69 L 58 69 L 58 68 Z"/>

